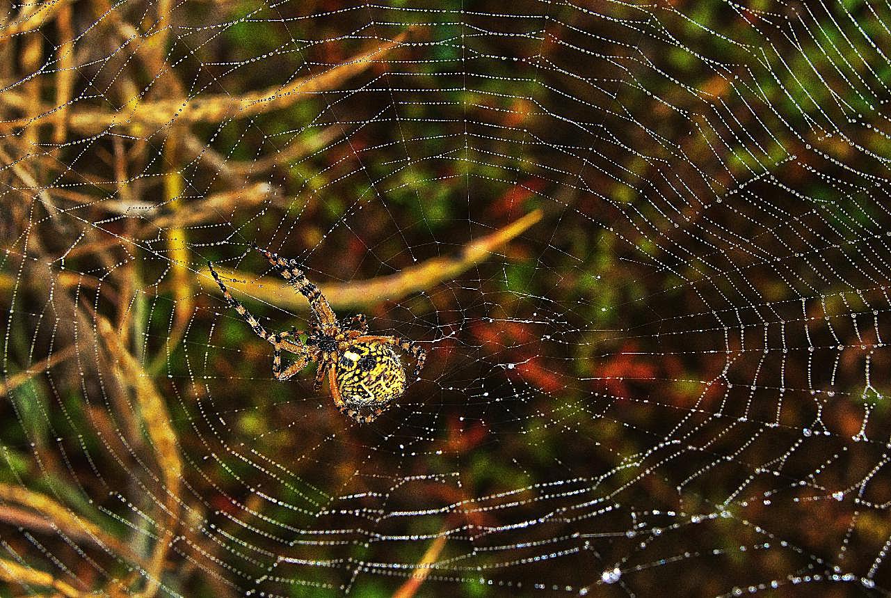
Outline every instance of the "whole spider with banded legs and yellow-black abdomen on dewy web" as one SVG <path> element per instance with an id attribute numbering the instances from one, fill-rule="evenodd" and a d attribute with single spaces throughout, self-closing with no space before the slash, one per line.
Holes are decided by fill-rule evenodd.
<path id="1" fill-rule="evenodd" d="M 223 291 L 226 303 L 243 317 L 251 329 L 261 339 L 273 345 L 273 374 L 276 380 L 286 381 L 302 370 L 308 363 L 316 362 L 313 389 L 322 389 L 325 375 L 331 386 L 331 397 L 340 413 L 347 414 L 356 422 L 372 422 L 383 413 L 396 398 L 405 391 L 405 368 L 399 360 L 395 348 L 401 348 L 415 359 L 415 379 L 427 353 L 412 340 L 396 336 L 368 334 L 368 323 L 364 314 L 338 320 L 328 299 L 299 268 L 294 259 L 279 258 L 276 254 L 255 247 L 275 266 L 279 274 L 295 290 L 309 299 L 309 307 L 314 320 L 309 332 L 291 328 L 288 332 L 268 332 L 257 318 L 234 299 L 225 288 L 213 264 L 208 262 L 210 274 Z M 306 342 L 300 335 L 306 334 Z M 294 363 L 282 369 L 282 350 L 297 355 Z"/>

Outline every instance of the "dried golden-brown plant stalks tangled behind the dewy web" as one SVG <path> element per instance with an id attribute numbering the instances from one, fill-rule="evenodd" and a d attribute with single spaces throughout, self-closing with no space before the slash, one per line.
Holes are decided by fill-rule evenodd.
<path id="1" fill-rule="evenodd" d="M 201 506 L 188 504 L 182 496 L 185 468 L 181 443 L 168 404 L 155 381 L 170 350 L 184 337 L 197 307 L 196 297 L 210 282 L 189 250 L 189 227 L 232 212 L 235 206 L 259 204 L 282 194 L 282 190 L 268 182 L 257 182 L 255 177 L 278 164 L 317 152 L 331 143 L 338 131 L 325 130 L 310 143 L 295 144 L 274 156 L 242 163 L 217 154 L 200 140 L 195 127 L 279 111 L 298 102 L 303 94 L 336 89 L 364 70 L 380 68 L 388 53 L 416 33 L 406 30 L 403 35 L 371 45 L 329 70 L 295 78 L 287 86 L 240 95 L 204 94 L 189 98 L 167 61 L 171 5 L 171 0 L 150 4 L 152 18 L 139 26 L 122 20 L 119 11 L 103 0 L 78 2 L 76 6 L 71 0 L 25 3 L 11 20 L 0 23 L 0 78 L 4 80 L 0 93 L 0 178 L 13 190 L 7 198 L 15 200 L 4 200 L 8 204 L 2 225 L 4 249 L 11 251 L 12 258 L 0 271 L 0 289 L 9 297 L 51 297 L 53 309 L 69 315 L 54 333 L 52 352 L 29 368 L 6 377 L 2 393 L 12 400 L 16 390 L 30 379 L 66 363 L 71 367 L 71 375 L 94 369 L 106 381 L 105 390 L 116 397 L 115 406 L 121 407 L 116 413 L 120 425 L 108 422 L 108 414 L 101 410 L 91 412 L 96 433 L 110 438 L 110 450 L 113 446 L 130 451 L 138 459 L 153 463 L 150 469 L 155 472 L 148 476 L 149 483 L 144 487 L 146 496 L 151 498 L 145 504 L 153 509 L 150 514 L 155 522 L 151 529 L 154 545 L 147 552 L 135 550 L 127 540 L 98 527 L 86 514 L 64 504 L 64 497 L 47 496 L 29 489 L 27 484 L 0 484 L 0 521 L 93 545 L 126 562 L 132 572 L 129 578 L 107 586 L 78 587 L 23 562 L 0 559 L 0 578 L 31 591 L 65 596 L 135 593 L 150 598 L 158 593 L 171 554 L 176 554 L 171 546 L 177 541 L 206 553 L 208 563 L 217 561 L 218 546 L 186 523 L 200 520 Z M 112 45 L 126 43 L 138 48 L 137 60 L 128 62 L 116 81 L 119 109 L 81 107 L 84 102 L 77 101 L 78 94 L 89 94 L 90 90 L 78 80 L 78 65 L 86 61 L 84 53 L 88 49 L 75 41 L 76 10 L 78 15 L 90 15 L 88 20 L 95 20 L 95 26 L 105 30 Z M 52 45 L 46 43 L 48 39 L 53 40 Z M 52 53 L 47 52 L 50 46 Z M 49 63 L 53 65 L 48 70 L 51 74 L 44 74 L 42 65 Z M 137 72 L 150 73 L 163 83 L 154 86 L 151 95 L 143 96 L 136 84 Z M 47 102 L 49 92 L 53 100 Z M 112 180 L 91 178 L 86 172 L 79 175 L 94 189 L 106 193 L 105 197 L 53 186 L 53 179 L 64 169 L 59 156 L 65 151 L 65 143 L 90 135 L 110 135 L 113 139 L 113 152 L 107 157 Z M 126 145 L 124 138 L 132 143 Z M 167 172 L 161 201 L 143 199 L 139 178 L 133 175 L 144 163 L 151 145 L 149 139 L 164 147 Z M 47 141 L 52 144 L 42 144 Z M 202 165 L 214 168 L 226 188 L 197 200 L 186 200 L 181 168 L 196 158 Z M 89 220 L 81 216 L 86 213 L 80 211 L 83 208 L 91 210 Z M 138 217 L 126 218 L 124 229 L 116 232 L 112 227 L 96 225 L 106 221 L 102 214 L 109 222 L 122 215 Z M 323 291 L 334 307 L 363 307 L 429 290 L 510 242 L 540 217 L 539 211 L 521 217 L 501 230 L 468 242 L 452 257 L 431 259 L 377 279 L 323 285 Z M 47 235 L 47 231 L 53 233 Z M 144 292 L 144 283 L 136 270 L 138 259 L 121 262 L 119 256 L 144 250 L 136 247 L 134 240 L 152 235 L 166 243 L 166 252 L 158 257 L 168 260 L 168 269 L 155 290 L 172 296 L 176 308 L 165 347 L 155 355 L 146 355 L 139 341 L 145 324 L 140 322 L 144 313 L 138 297 Z M 61 258 L 89 259 L 113 274 L 78 274 L 63 269 Z M 281 283 L 248 285 L 241 281 L 256 281 L 255 274 L 220 270 L 232 279 L 233 290 L 245 293 L 242 296 L 248 301 L 268 301 L 294 310 L 307 308 L 302 298 Z M 210 292 L 213 288 L 212 284 L 208 287 Z M 93 299 L 86 300 L 85 291 L 91 291 Z M 117 311 L 109 306 L 117 307 Z M 101 315 L 112 313 L 110 309 L 113 315 Z M 72 365 L 75 360 L 77 369 Z M 124 441 L 114 438 L 116 435 Z M 37 446 L 35 450 L 39 454 L 45 448 Z M 421 575 L 401 595 L 411 595 L 420 586 L 429 572 L 429 562 L 443 544 L 437 541 L 431 546 L 432 553 L 425 555 L 419 566 Z M 208 583 L 219 595 L 234 594 L 223 571 L 206 572 Z"/>

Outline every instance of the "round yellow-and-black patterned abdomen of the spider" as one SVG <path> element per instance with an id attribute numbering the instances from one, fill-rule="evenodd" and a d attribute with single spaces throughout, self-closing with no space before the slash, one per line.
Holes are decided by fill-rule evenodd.
<path id="1" fill-rule="evenodd" d="M 373 412 L 405 391 L 405 369 L 388 345 L 356 343 L 339 356 L 337 384 L 349 407 Z"/>

